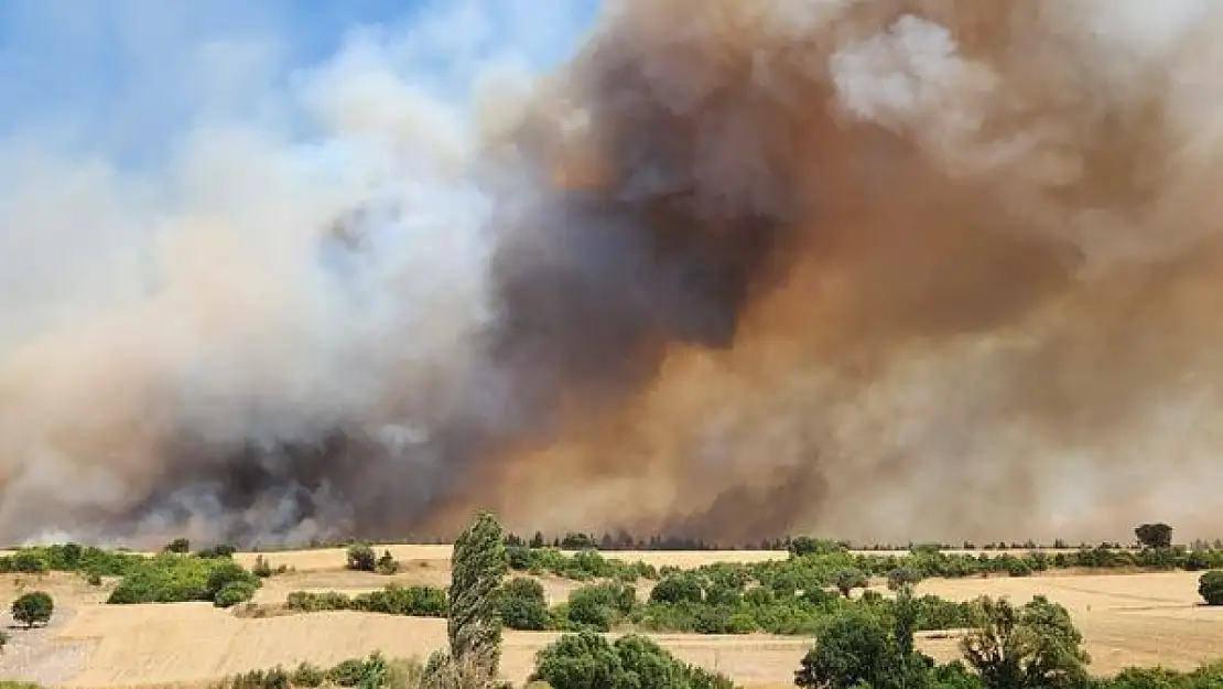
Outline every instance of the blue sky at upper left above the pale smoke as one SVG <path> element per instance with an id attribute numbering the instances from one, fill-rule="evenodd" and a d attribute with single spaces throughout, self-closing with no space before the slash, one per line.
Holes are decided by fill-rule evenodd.
<path id="1" fill-rule="evenodd" d="M 6 0 L 0 142 L 155 157 L 201 119 L 265 115 L 303 70 L 358 39 L 396 45 L 405 81 L 461 98 L 482 60 L 563 60 L 598 2 Z"/>

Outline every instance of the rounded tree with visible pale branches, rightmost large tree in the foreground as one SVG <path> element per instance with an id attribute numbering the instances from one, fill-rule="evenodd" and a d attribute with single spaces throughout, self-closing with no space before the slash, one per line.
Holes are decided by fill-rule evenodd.
<path id="1" fill-rule="evenodd" d="M 976 628 L 960 644 L 988 689 L 1079 689 L 1088 685 L 1082 635 L 1070 613 L 1044 596 L 1022 607 L 977 601 Z"/>

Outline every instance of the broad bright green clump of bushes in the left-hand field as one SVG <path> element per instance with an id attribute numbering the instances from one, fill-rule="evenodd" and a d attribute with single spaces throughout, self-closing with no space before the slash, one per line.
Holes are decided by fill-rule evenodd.
<path id="1" fill-rule="evenodd" d="M 213 601 L 231 583 L 249 584 L 253 594 L 260 580 L 230 559 L 159 554 L 141 561 L 111 591 L 108 603 L 175 603 Z M 245 590 L 245 589 L 243 589 Z M 226 596 L 234 596 L 230 591 Z"/>

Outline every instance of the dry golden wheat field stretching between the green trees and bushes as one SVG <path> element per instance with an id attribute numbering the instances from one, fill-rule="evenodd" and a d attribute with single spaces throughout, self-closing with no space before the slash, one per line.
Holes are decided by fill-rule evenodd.
<path id="1" fill-rule="evenodd" d="M 272 564 L 292 568 L 273 576 L 256 602 L 276 603 L 295 590 L 374 590 L 390 581 L 444 585 L 449 580 L 448 546 L 379 546 L 404 569 L 386 578 L 344 569 L 342 549 L 270 553 Z M 237 559 L 251 564 L 254 554 Z M 657 565 L 697 567 L 709 562 L 784 557 L 778 552 L 615 553 Z M 578 584 L 543 578 L 552 602 L 563 601 Z M 929 580 L 922 592 L 953 600 L 980 595 L 1022 602 L 1046 595 L 1066 606 L 1084 631 L 1098 673 L 1131 665 L 1191 668 L 1223 657 L 1223 609 L 1196 603 L 1197 575 L 1058 574 L 1024 579 Z M 6 576 L 0 600 L 21 590 L 43 589 L 55 596 L 57 612 L 48 629 L 13 630 L 0 656 L 0 678 L 38 680 L 79 688 L 155 685 L 201 687 L 226 674 L 302 660 L 328 665 L 382 650 L 388 656 L 427 656 L 445 640 L 445 622 L 328 612 L 267 618 L 237 617 L 209 603 L 106 606 L 110 583 L 91 587 L 79 576 Z M 550 633 L 508 631 L 504 672 L 525 680 L 537 650 L 555 639 Z M 789 687 L 808 641 L 768 635 L 659 635 L 658 640 L 689 662 L 718 669 L 746 687 Z M 920 645 L 940 660 L 955 655 L 956 640 L 927 636 Z"/>

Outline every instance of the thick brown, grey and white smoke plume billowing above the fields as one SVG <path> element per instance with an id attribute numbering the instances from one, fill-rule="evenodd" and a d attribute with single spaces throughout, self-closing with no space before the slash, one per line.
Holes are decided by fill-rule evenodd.
<path id="1" fill-rule="evenodd" d="M 0 536 L 1213 535 L 1217 5 L 609 1 L 468 119 L 6 163 Z"/>

